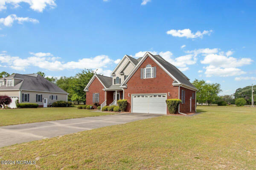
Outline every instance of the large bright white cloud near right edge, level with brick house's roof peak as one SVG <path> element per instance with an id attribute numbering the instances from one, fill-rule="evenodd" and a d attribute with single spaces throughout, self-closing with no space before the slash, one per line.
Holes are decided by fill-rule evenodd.
<path id="1" fill-rule="evenodd" d="M 209 64 L 215 67 L 223 67 L 223 68 L 235 68 L 241 67 L 243 65 L 249 65 L 253 62 L 250 58 L 241 58 L 237 59 L 234 57 L 226 57 L 217 54 L 209 54 L 204 60 L 201 60 L 202 64 Z"/>

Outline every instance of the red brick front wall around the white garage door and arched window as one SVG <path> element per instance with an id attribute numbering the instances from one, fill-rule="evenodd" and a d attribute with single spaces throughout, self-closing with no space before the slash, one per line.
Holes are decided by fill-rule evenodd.
<path id="1" fill-rule="evenodd" d="M 152 67 L 157 68 L 157 76 L 152 79 L 140 79 L 140 68 L 145 68 L 150 64 Z M 140 65 L 140 68 L 134 73 L 134 75 L 127 82 L 127 89 L 125 89 L 125 99 L 128 100 L 126 111 L 131 112 L 131 94 L 156 94 L 170 92 L 170 96 L 167 95 L 167 99 L 178 99 L 179 87 L 172 85 L 173 79 L 163 71 L 160 66 L 157 65 L 150 57 L 147 57 L 145 61 Z M 130 97 L 128 96 L 130 94 Z M 167 114 L 169 113 L 167 109 Z"/>

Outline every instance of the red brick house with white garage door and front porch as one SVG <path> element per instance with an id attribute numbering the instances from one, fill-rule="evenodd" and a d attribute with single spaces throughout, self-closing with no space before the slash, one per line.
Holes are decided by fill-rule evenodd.
<path id="1" fill-rule="evenodd" d="M 111 76 L 92 77 L 84 89 L 87 105 L 116 105 L 116 100 L 127 99 L 128 112 L 169 114 L 166 99 L 181 99 L 178 113 L 196 111 L 198 89 L 159 55 L 147 52 L 139 59 L 125 55 Z"/>

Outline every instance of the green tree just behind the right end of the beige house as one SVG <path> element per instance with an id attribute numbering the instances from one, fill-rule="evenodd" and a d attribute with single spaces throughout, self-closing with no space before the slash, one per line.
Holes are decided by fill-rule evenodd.
<path id="1" fill-rule="evenodd" d="M 68 95 L 68 100 L 72 100 L 72 101 L 76 101 L 72 99 L 72 96 L 74 94 L 73 91 L 73 81 L 74 81 L 74 77 L 61 77 L 59 79 L 57 79 L 56 81 L 56 85 L 58 85 L 59 88 L 63 89 L 64 91 L 66 91 L 69 95 Z"/>

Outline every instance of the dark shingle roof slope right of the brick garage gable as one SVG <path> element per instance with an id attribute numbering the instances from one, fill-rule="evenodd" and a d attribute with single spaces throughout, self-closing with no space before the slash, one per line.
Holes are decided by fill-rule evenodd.
<path id="1" fill-rule="evenodd" d="M 151 54 L 152 55 L 152 54 Z M 191 82 L 189 82 L 189 78 L 186 77 L 179 69 L 177 69 L 174 65 L 167 62 L 165 59 L 163 59 L 160 55 L 152 55 L 154 59 L 156 59 L 163 67 L 169 71 L 180 83 L 183 83 L 185 85 L 188 85 L 190 87 L 195 88 L 194 85 L 192 85 Z"/>

